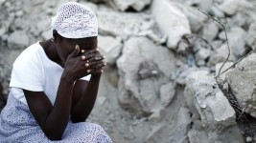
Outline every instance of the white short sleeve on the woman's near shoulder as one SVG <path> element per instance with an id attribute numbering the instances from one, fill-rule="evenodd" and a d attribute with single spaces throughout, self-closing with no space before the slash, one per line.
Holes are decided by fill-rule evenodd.
<path id="1" fill-rule="evenodd" d="M 43 91 L 43 70 L 36 54 L 21 53 L 12 65 L 10 87 L 33 92 Z"/>

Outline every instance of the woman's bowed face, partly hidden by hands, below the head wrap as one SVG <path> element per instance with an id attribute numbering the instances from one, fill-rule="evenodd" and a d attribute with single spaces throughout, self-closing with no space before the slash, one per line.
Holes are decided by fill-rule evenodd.
<path id="1" fill-rule="evenodd" d="M 97 37 L 88 37 L 81 39 L 68 39 L 61 37 L 57 42 L 58 56 L 63 63 L 66 62 L 68 55 L 75 50 L 76 45 L 79 45 L 80 51 L 89 51 L 97 48 Z M 79 53 L 81 55 L 81 52 Z"/>

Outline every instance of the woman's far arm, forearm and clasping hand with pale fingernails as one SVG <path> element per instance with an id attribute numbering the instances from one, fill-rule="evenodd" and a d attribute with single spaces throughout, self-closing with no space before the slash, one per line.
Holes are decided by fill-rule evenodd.
<path id="1" fill-rule="evenodd" d="M 105 57 L 98 49 L 85 52 L 94 53 L 91 58 L 86 60 L 86 67 L 91 73 L 90 81 L 77 80 L 74 86 L 73 101 L 71 109 L 71 120 L 73 122 L 84 122 L 93 109 L 103 68 L 105 67 Z M 87 55 L 85 55 L 88 57 Z M 86 65 L 85 64 L 85 65 Z"/>

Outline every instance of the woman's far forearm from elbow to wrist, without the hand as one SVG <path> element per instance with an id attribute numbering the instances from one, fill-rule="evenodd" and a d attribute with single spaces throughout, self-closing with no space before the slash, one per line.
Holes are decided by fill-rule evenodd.
<path id="1" fill-rule="evenodd" d="M 80 96 L 80 99 L 78 99 L 75 105 L 73 105 L 71 111 L 71 120 L 73 122 L 83 122 L 89 116 L 97 98 L 100 79 L 101 73 L 91 75 L 91 79 L 87 87 L 84 87 L 84 84 L 82 84 L 80 81 L 76 82 L 74 86 L 74 94 L 81 95 L 78 95 Z"/>

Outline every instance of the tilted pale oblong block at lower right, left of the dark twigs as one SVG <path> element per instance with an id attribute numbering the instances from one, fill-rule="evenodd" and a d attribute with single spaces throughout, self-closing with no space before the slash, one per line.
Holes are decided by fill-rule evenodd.
<path id="1" fill-rule="evenodd" d="M 202 88 L 203 87 L 203 88 Z M 193 72 L 188 75 L 186 88 L 194 96 L 194 105 L 201 121 L 206 125 L 209 138 L 221 142 L 243 141 L 236 124 L 236 114 L 209 72 Z M 228 132 L 227 132 L 228 131 Z M 236 134 L 226 141 L 224 137 Z"/>

